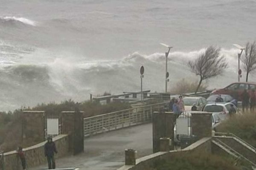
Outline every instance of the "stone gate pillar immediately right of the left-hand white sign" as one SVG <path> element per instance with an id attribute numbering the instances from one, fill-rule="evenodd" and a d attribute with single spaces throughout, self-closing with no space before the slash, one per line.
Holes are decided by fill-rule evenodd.
<path id="1" fill-rule="evenodd" d="M 69 134 L 69 150 L 76 155 L 84 151 L 83 112 L 61 112 L 62 134 Z"/>

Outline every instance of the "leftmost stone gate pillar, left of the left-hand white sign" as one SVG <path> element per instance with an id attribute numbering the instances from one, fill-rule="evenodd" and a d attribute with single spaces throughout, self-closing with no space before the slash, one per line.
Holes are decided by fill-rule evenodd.
<path id="1" fill-rule="evenodd" d="M 45 113 L 44 111 L 23 111 L 22 113 L 22 139 L 45 140 Z"/>

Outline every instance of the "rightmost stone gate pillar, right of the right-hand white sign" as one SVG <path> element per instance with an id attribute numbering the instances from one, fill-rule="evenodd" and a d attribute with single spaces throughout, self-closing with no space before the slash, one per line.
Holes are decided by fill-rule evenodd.
<path id="1" fill-rule="evenodd" d="M 212 113 L 196 112 L 191 116 L 192 135 L 201 139 L 212 136 Z"/>

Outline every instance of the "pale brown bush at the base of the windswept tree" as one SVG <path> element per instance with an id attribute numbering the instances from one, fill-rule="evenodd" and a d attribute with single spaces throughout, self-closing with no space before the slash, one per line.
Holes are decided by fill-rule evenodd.
<path id="1" fill-rule="evenodd" d="M 181 79 L 173 87 L 170 88 L 170 92 L 178 93 L 178 94 L 193 93 L 195 92 L 197 86 L 198 86 L 197 81 L 189 81 L 187 79 Z M 202 83 L 198 91 L 205 91 L 207 87 L 208 86 L 206 84 Z"/>

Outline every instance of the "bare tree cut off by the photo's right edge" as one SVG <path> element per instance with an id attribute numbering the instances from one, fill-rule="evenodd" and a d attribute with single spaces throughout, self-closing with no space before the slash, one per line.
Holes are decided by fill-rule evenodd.
<path id="1" fill-rule="evenodd" d="M 256 43 L 247 42 L 245 47 L 245 54 L 241 57 L 244 63 L 244 70 L 246 71 L 246 82 L 248 82 L 249 73 L 256 70 Z"/>

